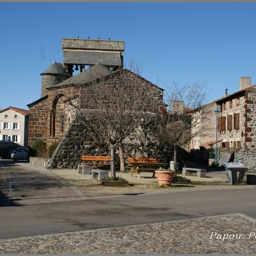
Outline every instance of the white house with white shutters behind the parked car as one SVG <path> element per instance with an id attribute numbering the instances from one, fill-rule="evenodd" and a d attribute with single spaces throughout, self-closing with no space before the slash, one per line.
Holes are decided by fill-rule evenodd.
<path id="1" fill-rule="evenodd" d="M 16 143 L 28 147 L 28 118 L 26 109 L 8 107 L 0 110 L 0 143 Z"/>

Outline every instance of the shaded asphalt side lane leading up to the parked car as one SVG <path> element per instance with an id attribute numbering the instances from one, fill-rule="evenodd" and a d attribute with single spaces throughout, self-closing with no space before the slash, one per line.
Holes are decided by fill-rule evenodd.
<path id="1" fill-rule="evenodd" d="M 57 175 L 40 166 L 26 163 L 25 161 L 13 162 L 1 160 L 9 180 L 8 198 L 19 203 L 19 200 L 39 200 L 62 198 L 64 196 L 76 197 L 82 194 L 60 179 Z M 1 172 L 1 171 L 0 171 Z"/>

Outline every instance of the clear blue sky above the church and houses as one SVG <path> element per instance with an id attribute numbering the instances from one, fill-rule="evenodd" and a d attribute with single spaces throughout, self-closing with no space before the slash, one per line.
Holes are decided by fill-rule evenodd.
<path id="1" fill-rule="evenodd" d="M 209 100 L 256 83 L 256 3 L 0 3 L 0 108 L 40 98 L 62 38 L 125 41 L 124 60 L 166 88 L 205 83 Z"/>

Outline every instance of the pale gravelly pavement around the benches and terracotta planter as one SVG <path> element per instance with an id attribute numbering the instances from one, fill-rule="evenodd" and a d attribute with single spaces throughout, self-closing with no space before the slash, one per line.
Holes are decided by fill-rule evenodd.
<path id="1" fill-rule="evenodd" d="M 196 176 L 186 176 L 195 184 L 172 184 L 171 187 L 159 187 L 156 178 L 152 178 L 152 173 L 141 173 L 140 179 L 131 173 L 117 172 L 116 176 L 122 177 L 129 181 L 133 186 L 102 186 L 97 180 L 92 179 L 92 175 L 83 175 L 77 173 L 77 170 L 71 169 L 52 169 L 49 172 L 58 175 L 66 180 L 72 186 L 79 189 L 84 196 L 106 196 L 106 195 L 124 195 L 127 193 L 171 193 L 179 191 L 195 190 L 216 190 L 216 189 L 246 189 L 254 188 L 254 185 L 232 186 L 227 182 L 226 172 L 209 172 L 206 178 Z M 185 176 L 182 176 L 185 177 Z"/>

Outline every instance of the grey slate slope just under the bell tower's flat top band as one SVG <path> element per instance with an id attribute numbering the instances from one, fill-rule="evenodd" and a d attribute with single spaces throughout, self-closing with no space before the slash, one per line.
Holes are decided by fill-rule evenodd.
<path id="1" fill-rule="evenodd" d="M 108 66 L 122 66 L 120 52 L 63 51 L 63 63 Z"/>

